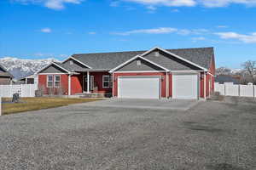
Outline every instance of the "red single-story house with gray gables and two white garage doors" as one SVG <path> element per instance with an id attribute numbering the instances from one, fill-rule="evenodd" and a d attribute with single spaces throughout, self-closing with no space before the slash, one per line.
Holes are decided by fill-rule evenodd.
<path id="1" fill-rule="evenodd" d="M 206 99 L 214 89 L 213 48 L 73 54 L 38 71 L 44 94 L 111 94 L 118 98 Z"/>

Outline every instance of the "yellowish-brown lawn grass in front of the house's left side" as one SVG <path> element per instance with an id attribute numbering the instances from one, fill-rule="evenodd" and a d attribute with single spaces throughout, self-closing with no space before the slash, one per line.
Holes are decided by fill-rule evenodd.
<path id="1" fill-rule="evenodd" d="M 72 98 L 21 98 L 20 103 L 3 103 L 3 115 L 18 113 L 23 111 L 37 111 L 65 105 L 86 103 L 99 99 L 72 99 Z M 11 99 L 3 98 L 3 101 Z"/>

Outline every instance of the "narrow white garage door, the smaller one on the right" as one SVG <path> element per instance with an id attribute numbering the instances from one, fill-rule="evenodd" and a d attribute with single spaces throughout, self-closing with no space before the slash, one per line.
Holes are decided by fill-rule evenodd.
<path id="1" fill-rule="evenodd" d="M 173 99 L 198 99 L 198 75 L 173 75 Z"/>

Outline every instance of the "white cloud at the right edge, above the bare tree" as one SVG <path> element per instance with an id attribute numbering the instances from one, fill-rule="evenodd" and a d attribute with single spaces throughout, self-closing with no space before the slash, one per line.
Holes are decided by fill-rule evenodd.
<path id="1" fill-rule="evenodd" d="M 217 32 L 215 33 L 222 39 L 235 39 L 245 43 L 256 43 L 256 32 L 252 34 L 238 34 L 236 32 Z"/>

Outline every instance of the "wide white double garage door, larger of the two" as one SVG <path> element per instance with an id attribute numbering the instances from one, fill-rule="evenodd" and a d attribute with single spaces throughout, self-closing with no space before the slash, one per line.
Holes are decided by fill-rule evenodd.
<path id="1" fill-rule="evenodd" d="M 160 99 L 160 77 L 119 77 L 118 97 Z"/>

